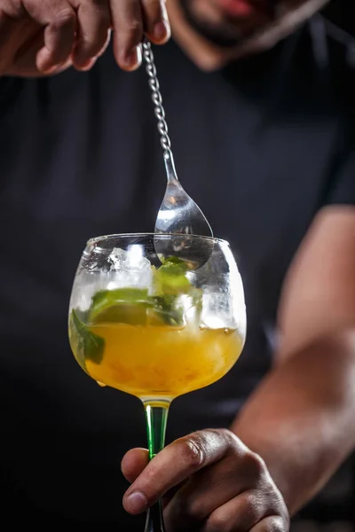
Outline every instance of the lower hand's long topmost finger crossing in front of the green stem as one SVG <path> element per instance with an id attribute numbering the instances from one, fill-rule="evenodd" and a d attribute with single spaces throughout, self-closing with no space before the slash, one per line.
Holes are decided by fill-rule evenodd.
<path id="1" fill-rule="evenodd" d="M 224 430 L 204 430 L 165 447 L 125 493 L 125 510 L 130 513 L 144 512 L 147 506 L 153 505 L 169 489 L 202 467 L 224 458 L 230 446 L 230 434 Z"/>

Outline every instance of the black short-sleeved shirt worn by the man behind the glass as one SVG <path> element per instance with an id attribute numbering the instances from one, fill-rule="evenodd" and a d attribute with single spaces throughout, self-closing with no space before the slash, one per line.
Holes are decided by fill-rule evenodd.
<path id="1" fill-rule="evenodd" d="M 168 442 L 229 426 L 270 367 L 282 280 L 314 215 L 355 202 L 354 72 L 311 21 L 206 74 L 173 42 L 155 59 L 177 173 L 244 281 L 248 340 L 215 385 L 178 398 Z M 119 524 L 137 399 L 76 364 L 67 306 L 85 241 L 152 231 L 165 189 L 146 74 L 107 51 L 90 73 L 0 80 L 0 488 L 12 524 Z"/>

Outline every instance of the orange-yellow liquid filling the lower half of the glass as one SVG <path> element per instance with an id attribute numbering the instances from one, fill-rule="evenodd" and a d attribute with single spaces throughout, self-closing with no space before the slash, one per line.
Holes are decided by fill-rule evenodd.
<path id="1" fill-rule="evenodd" d="M 86 360 L 87 372 L 101 385 L 141 398 L 174 398 L 208 386 L 232 368 L 243 347 L 230 329 L 113 323 L 90 331 L 106 344 L 100 364 Z"/>

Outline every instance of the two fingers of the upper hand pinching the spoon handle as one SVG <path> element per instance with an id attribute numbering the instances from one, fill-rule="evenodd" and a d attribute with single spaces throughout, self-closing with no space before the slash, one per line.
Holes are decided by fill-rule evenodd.
<path id="1" fill-rule="evenodd" d="M 135 70 L 142 61 L 140 43 L 148 35 L 154 43 L 165 43 L 170 25 L 164 0 L 111 0 L 114 57 L 123 70 Z"/>

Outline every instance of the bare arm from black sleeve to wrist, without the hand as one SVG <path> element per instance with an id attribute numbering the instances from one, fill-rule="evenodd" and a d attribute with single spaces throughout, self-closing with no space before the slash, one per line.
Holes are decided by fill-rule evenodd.
<path id="1" fill-rule="evenodd" d="M 355 445 L 355 207 L 327 207 L 313 223 L 279 326 L 272 372 L 232 429 L 264 458 L 293 513 Z"/>

